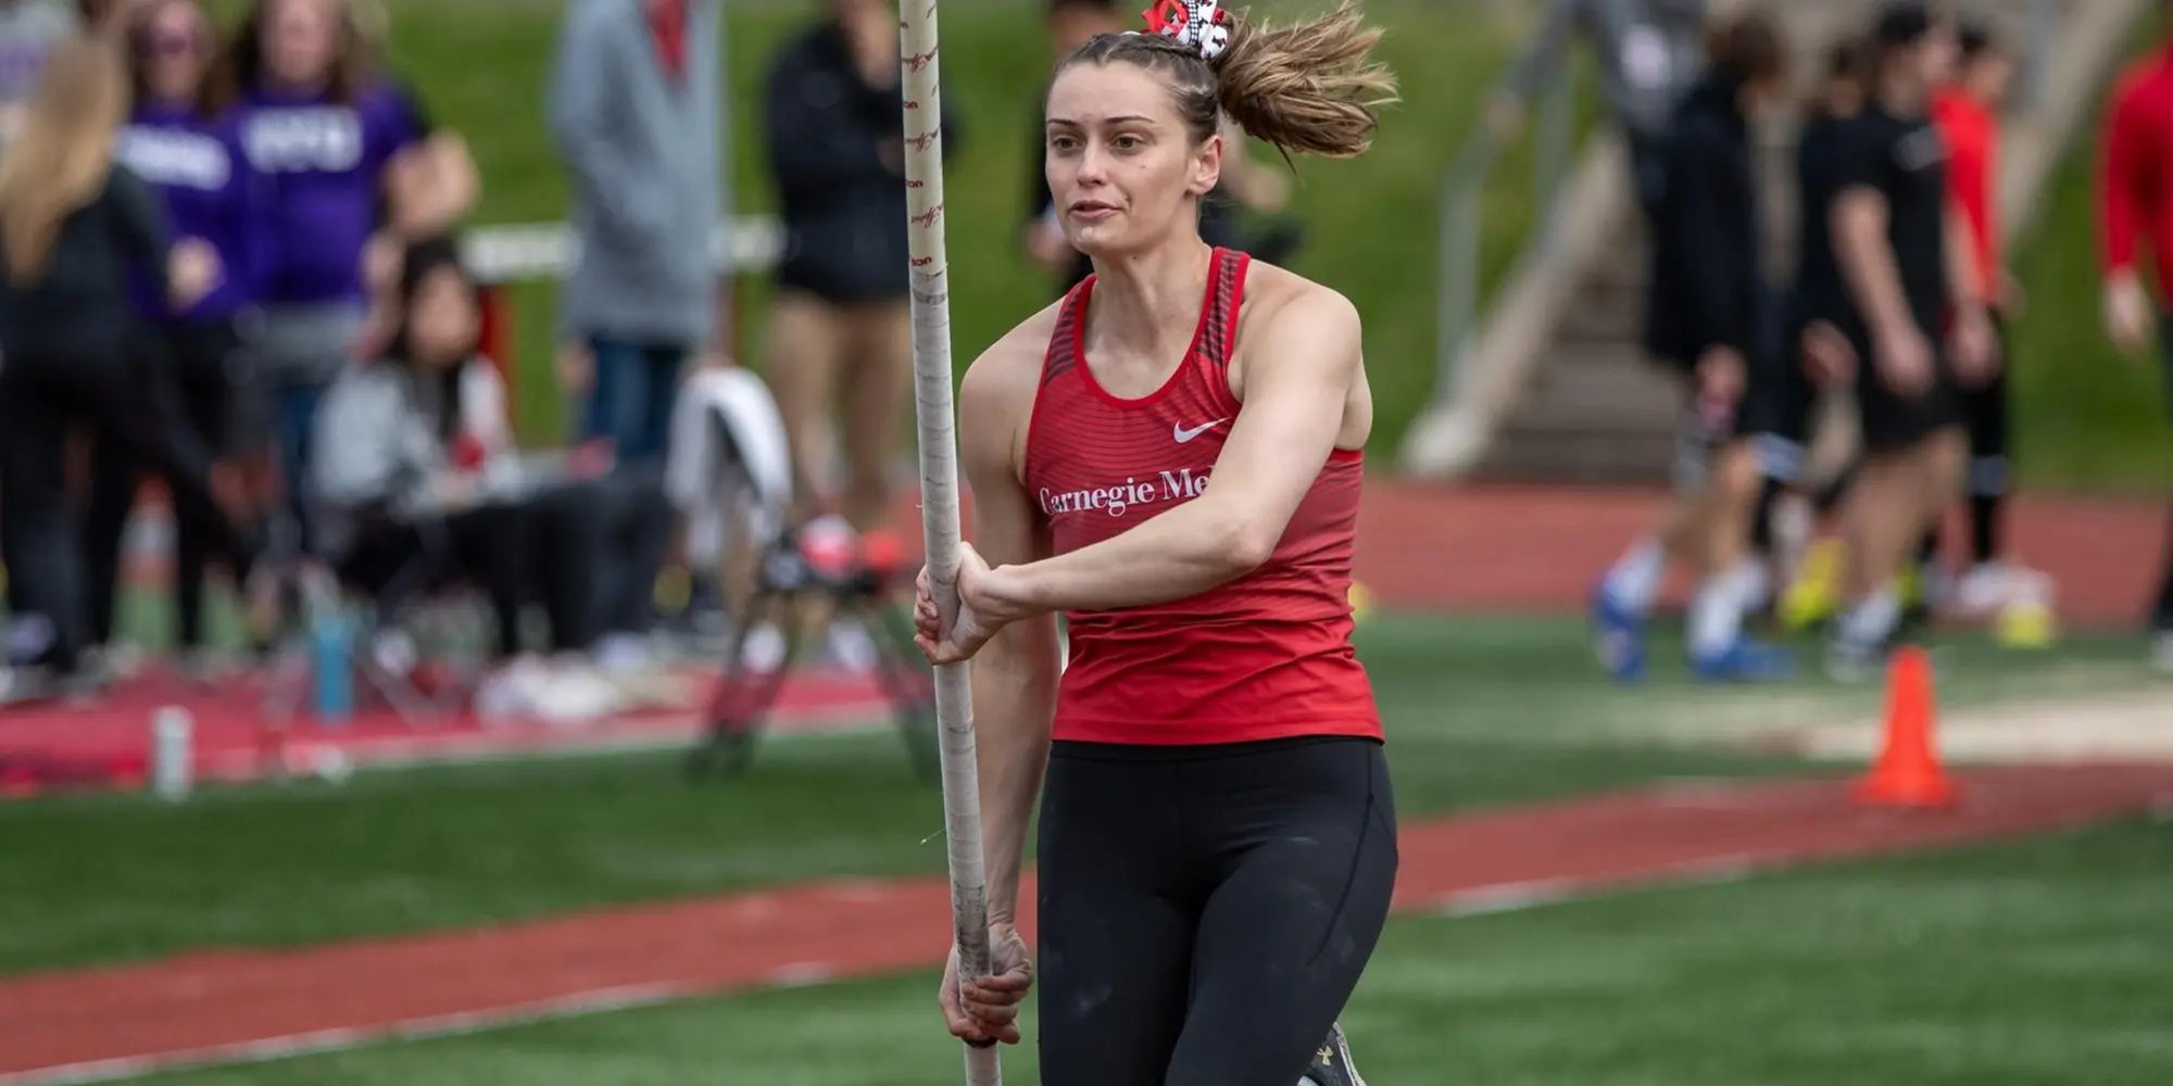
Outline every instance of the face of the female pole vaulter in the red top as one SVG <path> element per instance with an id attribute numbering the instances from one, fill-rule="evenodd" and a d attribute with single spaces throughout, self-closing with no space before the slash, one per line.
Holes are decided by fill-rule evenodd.
<path id="1" fill-rule="evenodd" d="M 1199 198 L 1221 178 L 1221 137 L 1193 141 L 1152 72 L 1076 63 L 1050 87 L 1043 163 L 1071 248 L 1136 252 L 1199 228 Z"/>

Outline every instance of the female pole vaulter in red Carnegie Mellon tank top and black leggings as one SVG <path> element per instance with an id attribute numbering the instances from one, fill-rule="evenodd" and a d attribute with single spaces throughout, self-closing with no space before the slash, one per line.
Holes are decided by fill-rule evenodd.
<path id="1" fill-rule="evenodd" d="M 1349 643 L 1373 421 L 1358 313 L 1197 224 L 1236 152 L 1221 113 L 1347 159 L 1395 80 L 1347 0 L 1280 28 L 1213 0 L 1147 17 L 1080 46 L 1047 93 L 1050 189 L 1095 274 L 960 389 L 978 550 L 950 626 L 926 573 L 915 617 L 930 660 L 978 658 L 995 975 L 960 986 L 954 956 L 941 1003 L 969 1043 L 1019 1040 L 1019 854 L 1045 788 L 1047 1086 L 1345 1084 L 1334 1019 L 1397 867 Z"/>

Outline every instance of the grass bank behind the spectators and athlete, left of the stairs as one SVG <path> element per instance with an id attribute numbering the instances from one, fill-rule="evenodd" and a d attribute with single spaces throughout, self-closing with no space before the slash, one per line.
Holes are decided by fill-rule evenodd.
<path id="1" fill-rule="evenodd" d="M 235 7 L 239 0 L 228 0 Z M 558 4 L 387 0 L 393 67 L 430 113 L 461 128 L 485 178 L 476 222 L 565 217 L 565 185 L 541 119 Z M 1265 11 L 1321 4 L 1269 0 Z M 800 33 L 817 4 L 730 2 L 728 48 L 734 109 L 732 167 L 741 213 L 776 200 L 761 150 L 767 56 Z M 947 165 L 954 354 L 965 367 L 982 348 L 1052 298 L 1019 254 L 1028 156 L 1047 74 L 1039 0 L 945 0 L 945 93 L 963 115 L 963 150 Z M 1308 245 L 1297 269 L 1334 282 L 1365 313 L 1376 400 L 1376 447 L 1393 450 L 1432 389 L 1436 202 L 1458 139 L 1530 13 L 1454 0 L 1376 0 L 1367 13 L 1389 28 L 1384 59 L 1404 83 L 1404 106 L 1360 163 L 1302 163 L 1295 211 Z M 1530 159 L 1519 150 L 1489 198 L 1489 267 L 1502 267 L 1530 219 Z M 750 285 L 752 343 L 761 343 L 763 287 Z M 517 417 L 524 437 L 558 441 L 563 404 L 550 376 L 554 287 L 524 287 L 519 306 Z"/>

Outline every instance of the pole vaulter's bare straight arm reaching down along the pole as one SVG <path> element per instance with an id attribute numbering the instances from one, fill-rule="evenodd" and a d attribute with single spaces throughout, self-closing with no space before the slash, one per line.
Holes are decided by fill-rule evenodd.
<path id="1" fill-rule="evenodd" d="M 1034 504 L 1019 482 L 1019 430 L 1034 404 L 1041 352 L 1006 337 L 958 387 L 958 458 L 974 489 L 974 550 L 995 565 L 1050 554 Z M 1045 337 L 1041 337 L 1045 339 Z M 1026 828 L 1050 760 L 1056 717 L 1056 617 L 1037 615 L 995 632 L 974 656 L 974 736 L 980 747 L 980 832 L 989 923 L 1015 923 Z"/>

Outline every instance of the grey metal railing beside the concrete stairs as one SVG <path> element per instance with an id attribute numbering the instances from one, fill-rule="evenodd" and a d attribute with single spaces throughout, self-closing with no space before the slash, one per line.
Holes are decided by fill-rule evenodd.
<path id="1" fill-rule="evenodd" d="M 1545 258 L 1560 243 L 1560 215 L 1556 202 L 1569 174 L 1575 143 L 1575 70 L 1571 67 L 1567 39 L 1534 37 L 1523 56 L 1510 65 L 1515 72 L 1523 63 L 1536 65 L 1538 78 L 1530 85 L 1536 93 L 1515 87 L 1508 76 L 1486 100 L 1486 113 L 1465 137 L 1462 148 L 1449 165 L 1449 176 L 1441 185 L 1441 269 L 1439 269 L 1439 313 L 1434 345 L 1434 406 L 1454 406 L 1462 397 L 1465 356 L 1473 348 L 1480 319 L 1480 293 L 1484 289 L 1486 256 L 1486 191 L 1506 152 L 1515 146 L 1517 132 L 1493 124 L 1493 109 L 1499 102 L 1515 102 L 1519 115 L 1538 115 L 1532 126 L 1532 228 L 1523 241 L 1519 263 Z M 1536 100 L 1536 102 L 1534 102 Z M 1536 104 L 1536 109 L 1532 109 Z"/>

